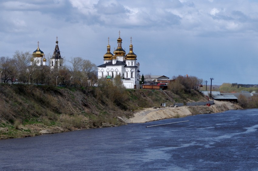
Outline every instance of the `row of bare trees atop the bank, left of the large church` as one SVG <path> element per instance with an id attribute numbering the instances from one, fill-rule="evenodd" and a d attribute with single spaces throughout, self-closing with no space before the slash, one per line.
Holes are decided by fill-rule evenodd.
<path id="1" fill-rule="evenodd" d="M 49 66 L 32 65 L 29 51 L 15 51 L 12 58 L 0 57 L 1 83 L 56 85 L 59 86 L 93 86 L 97 83 L 97 66 L 81 57 L 71 57 L 71 65 L 50 69 L 51 55 L 46 59 Z"/>

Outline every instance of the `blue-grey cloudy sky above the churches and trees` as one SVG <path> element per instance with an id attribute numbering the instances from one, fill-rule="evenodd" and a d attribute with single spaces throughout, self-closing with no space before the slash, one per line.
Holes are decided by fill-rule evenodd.
<path id="1" fill-rule="evenodd" d="M 66 65 L 71 57 L 103 64 L 129 52 L 140 74 L 196 76 L 258 84 L 258 0 L 1 0 L 0 56 L 39 48 L 53 54 L 56 37 Z"/>

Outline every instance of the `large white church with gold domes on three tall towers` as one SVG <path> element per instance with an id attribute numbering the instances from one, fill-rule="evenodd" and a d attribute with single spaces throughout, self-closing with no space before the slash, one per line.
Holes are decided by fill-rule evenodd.
<path id="1" fill-rule="evenodd" d="M 98 66 L 98 78 L 121 75 L 121 81 L 127 89 L 139 88 L 140 80 L 140 64 L 137 62 L 137 55 L 133 52 L 132 38 L 129 45 L 129 53 L 126 55 L 122 48 L 122 39 L 117 39 L 117 49 L 112 54 L 110 52 L 109 38 L 107 45 L 107 53 L 104 54 L 104 64 Z"/>

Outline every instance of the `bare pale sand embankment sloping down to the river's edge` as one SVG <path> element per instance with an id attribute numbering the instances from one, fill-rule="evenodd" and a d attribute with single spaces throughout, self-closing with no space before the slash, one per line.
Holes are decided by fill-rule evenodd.
<path id="1" fill-rule="evenodd" d="M 226 110 L 242 109 L 237 104 L 229 102 L 221 102 L 214 100 L 215 104 L 208 106 L 182 106 L 182 107 L 161 107 L 161 108 L 146 108 L 137 113 L 134 117 L 127 120 L 128 123 L 145 123 L 154 120 L 161 120 L 173 117 L 186 117 L 195 114 L 203 113 L 219 113 Z"/>

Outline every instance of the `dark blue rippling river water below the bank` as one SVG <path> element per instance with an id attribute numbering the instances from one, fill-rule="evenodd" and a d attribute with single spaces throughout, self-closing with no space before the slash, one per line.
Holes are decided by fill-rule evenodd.
<path id="1" fill-rule="evenodd" d="M 0 170 L 254 171 L 257 129 L 248 109 L 0 140 Z"/>

